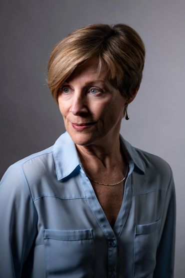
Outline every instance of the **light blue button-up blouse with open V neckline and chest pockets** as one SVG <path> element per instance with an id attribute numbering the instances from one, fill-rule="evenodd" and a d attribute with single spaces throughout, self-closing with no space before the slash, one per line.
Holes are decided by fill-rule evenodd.
<path id="1" fill-rule="evenodd" d="M 67 132 L 8 168 L 0 183 L 0 278 L 173 277 L 171 169 L 120 140 L 129 173 L 113 229 Z"/>

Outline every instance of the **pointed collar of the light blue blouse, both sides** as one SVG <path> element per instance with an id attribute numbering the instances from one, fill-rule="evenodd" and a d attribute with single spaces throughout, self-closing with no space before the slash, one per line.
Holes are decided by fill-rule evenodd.
<path id="1" fill-rule="evenodd" d="M 129 156 L 142 173 L 144 173 L 143 163 L 138 155 L 137 149 L 132 147 L 120 135 L 120 140 L 123 144 L 123 149 L 126 156 Z M 77 155 L 75 144 L 67 132 L 63 133 L 53 145 L 53 157 L 56 168 L 57 180 L 69 176 L 80 165 L 80 160 Z"/>

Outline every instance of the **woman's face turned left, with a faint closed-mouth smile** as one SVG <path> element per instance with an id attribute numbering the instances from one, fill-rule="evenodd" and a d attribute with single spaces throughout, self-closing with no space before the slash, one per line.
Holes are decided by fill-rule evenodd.
<path id="1" fill-rule="evenodd" d="M 106 68 L 98 75 L 93 59 L 74 70 L 60 87 L 59 110 L 77 145 L 113 143 L 119 136 L 126 100 L 106 76 Z"/>

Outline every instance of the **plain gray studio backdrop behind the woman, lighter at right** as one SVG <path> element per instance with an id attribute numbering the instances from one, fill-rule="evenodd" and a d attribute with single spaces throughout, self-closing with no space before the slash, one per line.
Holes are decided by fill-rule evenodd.
<path id="1" fill-rule="evenodd" d="M 146 63 L 121 133 L 165 159 L 176 184 L 175 277 L 185 276 L 184 0 L 0 1 L 0 175 L 64 131 L 46 86 L 49 52 L 61 37 L 91 23 L 126 23 L 142 37 Z"/>

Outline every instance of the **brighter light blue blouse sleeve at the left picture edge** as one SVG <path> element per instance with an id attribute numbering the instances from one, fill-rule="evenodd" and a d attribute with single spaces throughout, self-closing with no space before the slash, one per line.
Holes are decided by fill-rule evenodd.
<path id="1" fill-rule="evenodd" d="M 20 165 L 10 166 L 0 182 L 0 277 L 21 277 L 36 235 L 37 215 Z"/>

